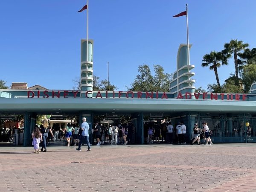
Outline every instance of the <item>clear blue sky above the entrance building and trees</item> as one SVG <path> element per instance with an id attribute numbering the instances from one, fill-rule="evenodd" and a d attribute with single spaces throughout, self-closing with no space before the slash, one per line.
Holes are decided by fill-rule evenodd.
<path id="1" fill-rule="evenodd" d="M 94 40 L 94 74 L 126 90 L 138 66 L 176 70 L 177 49 L 186 43 L 189 12 L 190 63 L 195 86 L 216 83 L 202 57 L 221 51 L 238 39 L 256 47 L 256 1 L 252 0 L 90 0 L 89 38 Z M 1 0 L 0 80 L 40 84 L 48 89 L 72 89 L 80 77 L 80 44 L 86 38 L 86 0 Z M 218 69 L 221 84 L 234 72 L 233 58 Z"/>

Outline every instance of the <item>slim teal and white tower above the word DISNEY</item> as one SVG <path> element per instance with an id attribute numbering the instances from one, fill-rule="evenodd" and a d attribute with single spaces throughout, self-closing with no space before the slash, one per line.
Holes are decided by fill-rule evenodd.
<path id="1" fill-rule="evenodd" d="M 88 61 L 86 61 L 86 39 L 81 40 L 81 97 L 93 90 L 93 40 L 88 40 Z M 91 97 L 89 92 L 87 97 Z"/>

